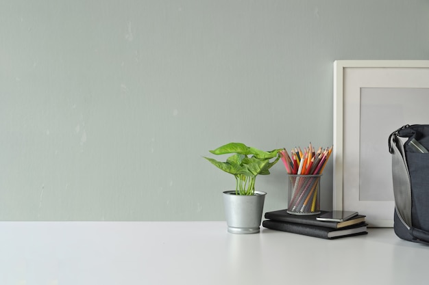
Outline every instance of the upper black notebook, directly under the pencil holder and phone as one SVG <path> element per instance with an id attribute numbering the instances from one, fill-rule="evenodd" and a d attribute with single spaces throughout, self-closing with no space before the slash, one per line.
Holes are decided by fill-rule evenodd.
<path id="1" fill-rule="evenodd" d="M 279 210 L 265 213 L 265 218 L 272 219 L 274 221 L 287 221 L 290 223 L 302 223 L 304 225 L 334 229 L 356 225 L 365 221 L 365 215 L 357 215 L 352 217 L 352 219 L 347 219 L 347 221 L 319 221 L 316 219 L 324 213 L 328 213 L 328 211 L 320 211 L 320 214 L 317 215 L 292 215 L 287 213 L 286 210 Z"/>

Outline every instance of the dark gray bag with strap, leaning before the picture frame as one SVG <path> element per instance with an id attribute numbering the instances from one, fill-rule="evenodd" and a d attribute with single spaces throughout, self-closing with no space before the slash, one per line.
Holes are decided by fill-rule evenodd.
<path id="1" fill-rule="evenodd" d="M 429 245 L 428 150 L 429 125 L 402 126 L 389 136 L 395 195 L 393 229 L 400 239 Z"/>

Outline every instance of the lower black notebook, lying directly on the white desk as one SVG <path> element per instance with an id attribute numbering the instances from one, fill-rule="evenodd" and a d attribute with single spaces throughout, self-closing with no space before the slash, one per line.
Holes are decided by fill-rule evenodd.
<path id="1" fill-rule="evenodd" d="M 339 239 L 345 236 L 356 236 L 367 234 L 367 223 L 358 223 L 341 229 L 325 228 L 319 226 L 304 225 L 302 223 L 289 223 L 287 221 L 262 221 L 262 226 L 271 230 L 280 230 L 282 232 L 292 232 L 294 234 L 304 234 L 314 236 L 320 239 Z"/>

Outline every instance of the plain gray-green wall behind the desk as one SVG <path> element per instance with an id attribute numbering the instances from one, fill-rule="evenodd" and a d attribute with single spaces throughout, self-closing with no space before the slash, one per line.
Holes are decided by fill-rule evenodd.
<path id="1" fill-rule="evenodd" d="M 334 60 L 428 37 L 423 0 L 1 1 L 0 219 L 222 220 L 208 150 L 331 146 Z M 321 183 L 329 209 L 332 161 Z"/>

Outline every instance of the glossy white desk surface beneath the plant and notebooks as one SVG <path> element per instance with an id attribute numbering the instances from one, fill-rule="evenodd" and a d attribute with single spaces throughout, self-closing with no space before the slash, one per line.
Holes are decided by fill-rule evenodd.
<path id="1" fill-rule="evenodd" d="M 0 222 L 1 285 L 427 285 L 428 260 L 392 228 L 324 240 L 224 221 Z"/>

